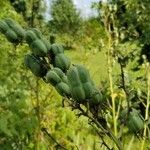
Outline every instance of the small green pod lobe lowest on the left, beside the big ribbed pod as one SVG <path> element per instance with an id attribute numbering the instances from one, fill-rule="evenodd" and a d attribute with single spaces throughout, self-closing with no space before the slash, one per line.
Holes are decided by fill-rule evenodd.
<path id="1" fill-rule="evenodd" d="M 62 96 L 68 96 L 68 95 L 70 95 L 70 88 L 69 88 L 69 86 L 68 86 L 66 83 L 64 83 L 64 82 L 58 83 L 55 88 L 56 88 L 57 92 L 58 92 L 60 95 L 62 95 Z"/>

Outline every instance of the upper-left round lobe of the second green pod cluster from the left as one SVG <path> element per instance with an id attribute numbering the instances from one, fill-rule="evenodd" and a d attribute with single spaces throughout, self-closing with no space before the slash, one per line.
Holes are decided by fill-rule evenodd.
<path id="1" fill-rule="evenodd" d="M 37 36 L 36 34 L 31 31 L 31 30 L 28 30 L 25 34 L 25 39 L 26 39 L 26 42 L 31 45 L 35 40 L 37 40 Z"/>

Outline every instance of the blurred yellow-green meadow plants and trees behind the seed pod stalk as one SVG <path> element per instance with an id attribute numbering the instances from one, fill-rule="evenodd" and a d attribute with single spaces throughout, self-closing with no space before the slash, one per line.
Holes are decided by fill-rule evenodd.
<path id="1" fill-rule="evenodd" d="M 51 43 L 62 43 L 73 64 L 84 64 L 110 109 L 107 125 L 123 149 L 150 148 L 150 2 L 92 3 L 97 16 L 83 19 L 72 0 L 52 0 L 51 19 L 42 0 L 0 1 L 0 19 L 24 29 L 36 27 Z M 0 149 L 109 149 L 78 110 L 62 107 L 62 97 L 24 66 L 26 43 L 13 45 L 0 35 Z M 133 132 L 123 110 L 136 109 L 144 122 Z M 121 118 L 121 119 L 120 119 Z M 103 137 L 110 149 L 114 142 Z"/>

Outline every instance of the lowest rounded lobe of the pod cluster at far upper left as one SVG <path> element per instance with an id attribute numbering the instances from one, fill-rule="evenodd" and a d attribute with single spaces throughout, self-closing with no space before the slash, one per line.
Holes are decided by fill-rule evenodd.
<path id="1" fill-rule="evenodd" d="M 18 43 L 17 34 L 13 30 L 9 29 L 5 33 L 5 36 L 6 36 L 7 40 L 10 41 L 11 43 Z"/>

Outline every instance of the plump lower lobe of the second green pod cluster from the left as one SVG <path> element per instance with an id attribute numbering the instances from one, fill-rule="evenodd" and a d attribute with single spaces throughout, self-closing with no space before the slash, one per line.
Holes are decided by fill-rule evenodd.
<path id="1" fill-rule="evenodd" d="M 35 40 L 31 44 L 31 49 L 34 55 L 39 56 L 39 57 L 45 57 L 47 54 L 47 49 L 43 42 L 39 39 Z"/>

